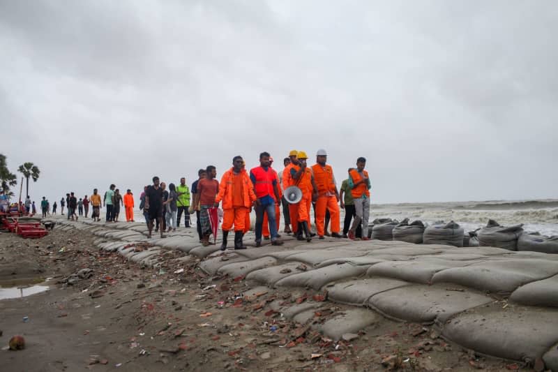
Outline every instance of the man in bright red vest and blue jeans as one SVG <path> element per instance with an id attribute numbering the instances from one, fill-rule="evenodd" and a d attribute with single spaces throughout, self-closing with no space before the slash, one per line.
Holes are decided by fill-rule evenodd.
<path id="1" fill-rule="evenodd" d="M 256 194 L 256 246 L 262 246 L 262 225 L 264 223 L 264 212 L 269 218 L 269 230 L 271 232 L 271 244 L 280 246 L 283 242 L 278 238 L 275 211 L 281 202 L 279 197 L 279 180 L 277 172 L 269 167 L 269 152 L 259 154 L 259 167 L 250 170 L 250 180 L 254 185 Z"/>

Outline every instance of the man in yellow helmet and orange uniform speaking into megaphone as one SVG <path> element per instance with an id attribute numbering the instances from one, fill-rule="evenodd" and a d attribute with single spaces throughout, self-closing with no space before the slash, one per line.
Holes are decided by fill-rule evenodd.
<path id="1" fill-rule="evenodd" d="M 312 174 L 312 170 L 307 167 L 306 160 L 308 156 L 306 152 L 299 151 L 296 154 L 296 158 L 299 161 L 299 170 L 296 168 L 291 168 L 289 170 L 291 174 L 291 181 L 294 186 L 298 186 L 302 191 L 302 199 L 298 206 L 298 216 L 297 221 L 299 221 L 300 225 L 298 227 L 298 233 L 296 239 L 302 240 L 302 231 L 306 235 L 306 241 L 312 240 L 312 235 L 310 233 L 310 207 L 312 206 L 312 198 L 317 197 L 317 186 L 314 181 L 314 175 Z M 291 216 L 292 218 L 292 216 Z"/>

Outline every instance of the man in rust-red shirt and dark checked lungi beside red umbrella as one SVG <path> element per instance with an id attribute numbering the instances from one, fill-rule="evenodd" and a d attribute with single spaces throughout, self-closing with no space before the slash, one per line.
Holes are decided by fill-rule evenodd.
<path id="1" fill-rule="evenodd" d="M 211 235 L 211 224 L 209 223 L 208 208 L 213 207 L 215 197 L 219 192 L 219 181 L 217 170 L 213 165 L 206 168 L 206 176 L 197 183 L 197 192 L 195 193 L 194 205 L 199 203 L 199 221 L 202 226 L 202 245 L 209 246 L 209 236 Z"/>

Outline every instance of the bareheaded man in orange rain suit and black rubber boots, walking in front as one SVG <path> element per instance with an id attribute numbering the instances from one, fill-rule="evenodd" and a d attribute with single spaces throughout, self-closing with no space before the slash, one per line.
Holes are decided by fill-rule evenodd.
<path id="1" fill-rule="evenodd" d="M 223 200 L 223 243 L 221 251 L 227 249 L 227 237 L 229 230 L 234 225 L 234 249 L 246 249 L 243 246 L 242 237 L 244 235 L 244 222 L 246 214 L 250 213 L 250 206 L 256 200 L 256 195 L 252 190 L 252 182 L 242 169 L 242 157 L 234 156 L 232 168 L 227 170 L 219 184 L 219 193 L 215 198 L 215 206 L 218 207 Z"/>

